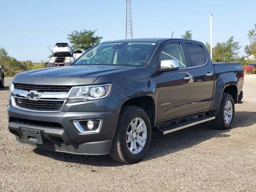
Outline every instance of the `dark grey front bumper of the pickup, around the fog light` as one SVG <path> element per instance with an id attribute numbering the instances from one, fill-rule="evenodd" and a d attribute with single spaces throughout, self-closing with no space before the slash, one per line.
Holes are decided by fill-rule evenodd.
<path id="1" fill-rule="evenodd" d="M 59 113 L 39 113 L 28 112 L 13 108 L 8 105 L 9 125 L 8 129 L 16 135 L 16 140 L 22 144 L 34 146 L 36 148 L 67 152 L 73 154 L 109 154 L 114 138 L 118 113 L 117 105 L 108 102 L 112 109 L 108 112 L 59 112 Z M 69 110 L 72 110 L 70 107 Z M 79 111 L 79 108 L 77 108 Z M 63 110 L 62 110 L 63 111 Z M 38 126 L 35 123 L 28 124 L 12 121 L 12 118 L 29 120 L 29 122 L 52 122 L 58 123 L 61 127 Z M 79 132 L 73 124 L 74 120 L 101 119 L 102 127 L 100 132 L 95 134 L 83 134 Z M 31 121 L 30 121 L 31 120 Z M 28 140 L 24 134 L 24 129 L 38 132 L 38 140 Z M 37 137 L 37 136 L 35 136 Z"/>

